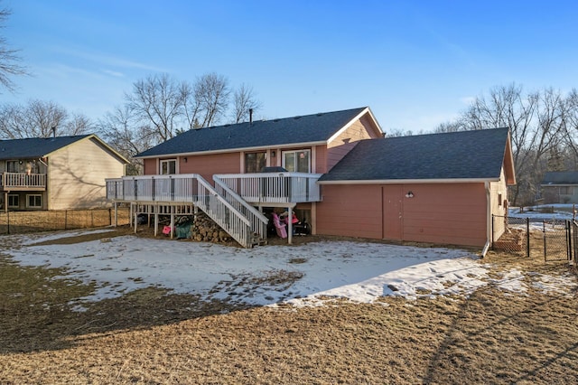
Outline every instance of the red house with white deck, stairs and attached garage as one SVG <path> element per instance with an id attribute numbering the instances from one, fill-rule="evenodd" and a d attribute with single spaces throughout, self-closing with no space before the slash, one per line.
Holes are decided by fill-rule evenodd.
<path id="1" fill-rule="evenodd" d="M 190 130 L 138 155 L 145 175 L 108 181 L 108 197 L 134 213 L 188 202 L 246 247 L 272 209 L 314 234 L 484 246 L 515 183 L 508 129 L 383 136 L 369 108 Z"/>

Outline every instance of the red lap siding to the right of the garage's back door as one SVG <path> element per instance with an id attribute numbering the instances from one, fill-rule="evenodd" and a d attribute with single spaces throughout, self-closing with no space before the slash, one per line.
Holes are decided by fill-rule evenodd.
<path id="1" fill-rule="evenodd" d="M 483 183 L 406 184 L 403 239 L 483 246 L 487 209 Z"/>

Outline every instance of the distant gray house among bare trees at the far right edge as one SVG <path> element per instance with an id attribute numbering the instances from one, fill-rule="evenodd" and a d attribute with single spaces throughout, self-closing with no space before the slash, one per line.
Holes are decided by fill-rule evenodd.
<path id="1" fill-rule="evenodd" d="M 541 183 L 545 204 L 578 203 L 578 172 L 545 173 Z"/>

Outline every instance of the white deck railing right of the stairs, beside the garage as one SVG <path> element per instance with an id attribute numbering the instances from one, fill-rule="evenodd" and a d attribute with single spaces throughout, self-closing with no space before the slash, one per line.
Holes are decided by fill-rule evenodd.
<path id="1" fill-rule="evenodd" d="M 245 201 L 257 204 L 319 202 L 317 181 L 322 174 L 256 173 L 219 174 L 218 178 Z"/>

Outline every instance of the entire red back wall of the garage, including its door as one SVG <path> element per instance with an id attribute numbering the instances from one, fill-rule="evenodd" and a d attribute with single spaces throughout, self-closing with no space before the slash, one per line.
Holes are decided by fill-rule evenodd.
<path id="1" fill-rule="evenodd" d="M 324 184 L 322 196 L 318 234 L 464 246 L 486 242 L 483 183 Z"/>

